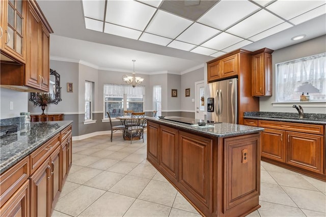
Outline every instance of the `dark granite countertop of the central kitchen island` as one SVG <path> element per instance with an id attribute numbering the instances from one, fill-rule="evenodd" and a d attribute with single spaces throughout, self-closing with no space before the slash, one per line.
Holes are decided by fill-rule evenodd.
<path id="1" fill-rule="evenodd" d="M 168 117 L 166 117 L 168 118 Z M 262 127 L 252 127 L 240 124 L 229 123 L 208 123 L 205 126 L 198 126 L 197 124 L 184 124 L 167 119 L 147 118 L 153 122 L 165 123 L 172 127 L 186 129 L 196 133 L 211 135 L 213 137 L 235 137 L 236 135 L 252 134 L 262 131 Z"/>

